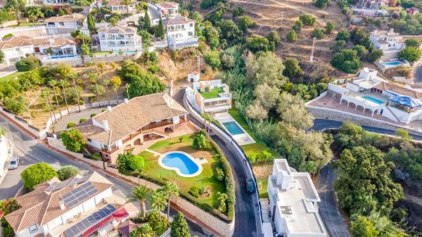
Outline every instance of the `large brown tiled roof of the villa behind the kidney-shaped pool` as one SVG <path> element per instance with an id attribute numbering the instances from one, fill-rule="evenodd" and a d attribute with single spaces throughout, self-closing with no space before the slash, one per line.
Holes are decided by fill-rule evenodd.
<path id="1" fill-rule="evenodd" d="M 169 101 L 167 103 L 167 101 Z M 186 111 L 179 103 L 167 94 L 151 94 L 132 98 L 128 103 L 121 103 L 94 117 L 92 120 L 103 124 L 107 120 L 108 131 L 95 125 L 76 127 L 87 138 L 101 143 L 115 143 L 124 136 L 141 129 L 150 122 L 165 120 L 175 116 L 186 115 Z"/>

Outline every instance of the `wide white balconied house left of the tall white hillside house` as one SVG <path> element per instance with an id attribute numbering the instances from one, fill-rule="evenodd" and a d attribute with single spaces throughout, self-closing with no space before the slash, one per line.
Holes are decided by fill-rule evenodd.
<path id="1" fill-rule="evenodd" d="M 97 30 L 101 51 L 142 51 L 141 37 L 136 28 L 128 26 L 105 27 Z"/>

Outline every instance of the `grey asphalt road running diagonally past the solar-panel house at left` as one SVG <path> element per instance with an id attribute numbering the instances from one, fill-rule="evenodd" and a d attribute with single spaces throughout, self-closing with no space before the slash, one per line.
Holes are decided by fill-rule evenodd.
<path id="1" fill-rule="evenodd" d="M 25 167 L 38 162 L 46 162 L 56 169 L 62 167 L 63 165 L 74 165 L 75 167 L 78 167 L 81 174 L 86 174 L 87 172 L 92 171 L 91 167 L 87 167 L 87 165 L 70 160 L 63 155 L 46 148 L 46 146 L 41 145 L 37 142 L 37 140 L 32 139 L 18 127 L 15 127 L 14 124 L 8 122 L 8 120 L 1 115 L 0 126 L 6 129 L 6 136 L 13 143 L 13 156 L 20 157 L 18 169 L 9 171 L 6 174 L 4 181 L 0 184 L 0 200 L 15 196 L 15 193 L 17 193 L 19 188 L 22 186 L 20 173 L 23 172 Z M 114 177 L 110 177 L 106 174 L 101 175 L 113 182 L 113 193 L 117 193 L 117 195 L 127 196 L 133 188 L 132 185 L 127 184 L 120 179 L 115 179 Z M 173 215 L 176 212 L 171 209 L 170 213 Z M 190 219 L 187 219 L 187 222 L 192 236 L 212 236 L 212 233 L 203 229 L 203 227 L 199 224 L 192 222 Z"/>

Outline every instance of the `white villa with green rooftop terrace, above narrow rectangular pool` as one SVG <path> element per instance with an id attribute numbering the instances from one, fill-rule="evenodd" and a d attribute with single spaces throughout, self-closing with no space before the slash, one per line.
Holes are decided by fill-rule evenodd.
<path id="1" fill-rule="evenodd" d="M 193 82 L 191 89 L 186 91 L 191 104 L 200 113 L 224 113 L 231 109 L 230 89 L 221 79 Z"/>

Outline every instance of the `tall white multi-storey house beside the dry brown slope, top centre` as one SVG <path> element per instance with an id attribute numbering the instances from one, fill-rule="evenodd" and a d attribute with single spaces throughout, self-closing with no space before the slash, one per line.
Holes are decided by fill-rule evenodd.
<path id="1" fill-rule="evenodd" d="M 162 20 L 168 46 L 171 50 L 198 46 L 195 36 L 195 20 L 180 15 L 169 16 Z"/>

